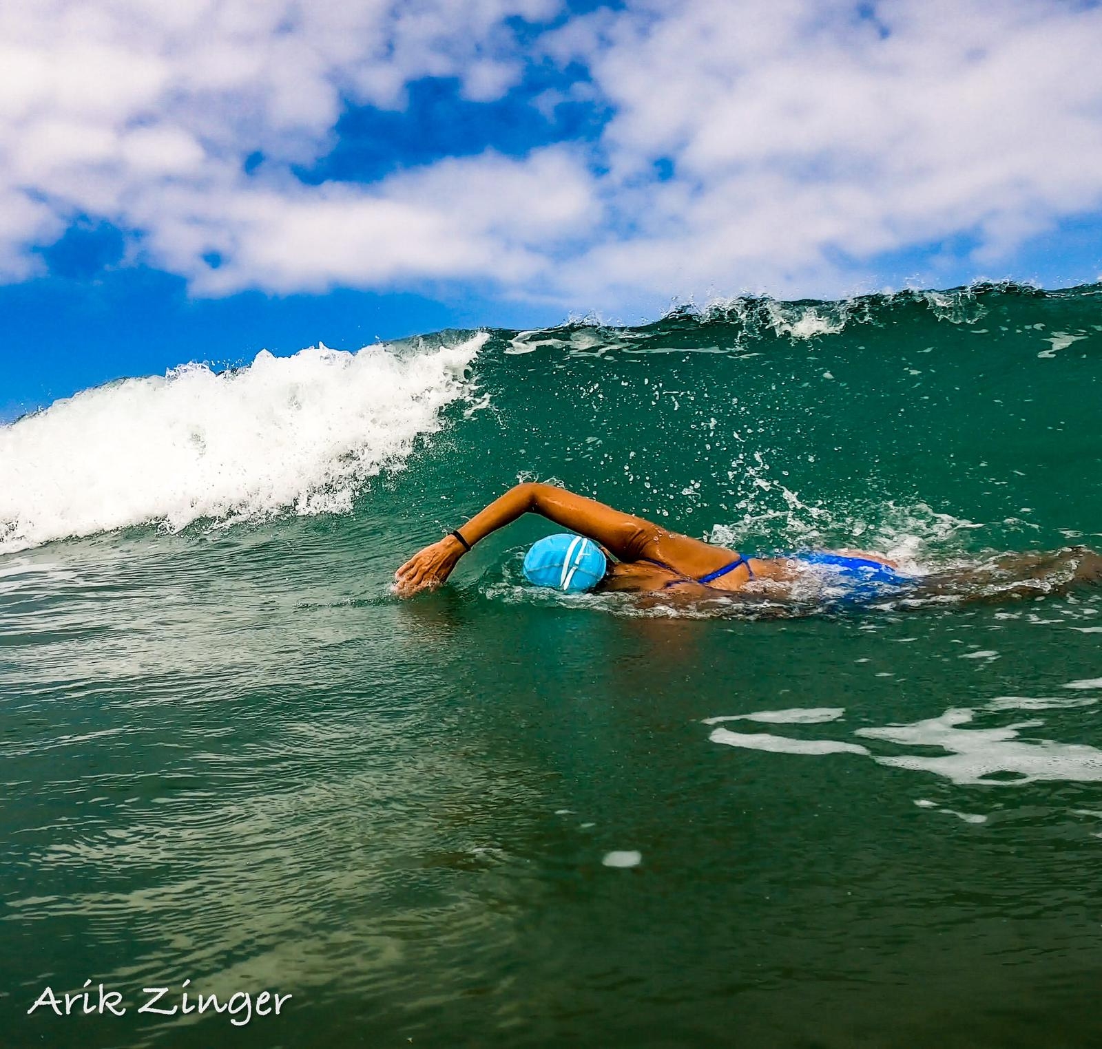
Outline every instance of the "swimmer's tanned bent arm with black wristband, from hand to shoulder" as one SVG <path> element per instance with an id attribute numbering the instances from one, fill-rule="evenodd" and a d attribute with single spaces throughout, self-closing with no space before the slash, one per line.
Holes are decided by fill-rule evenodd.
<path id="1" fill-rule="evenodd" d="M 563 528 L 586 536 L 606 547 L 620 561 L 651 556 L 679 571 L 707 572 L 730 560 L 730 554 L 717 547 L 668 532 L 641 517 L 623 513 L 595 499 L 553 485 L 523 484 L 510 488 L 471 518 L 460 533 L 473 547 L 490 532 L 528 512 L 541 513 Z M 425 547 L 395 573 L 398 593 L 408 597 L 418 591 L 435 590 L 465 552 L 454 536 L 445 536 Z"/>

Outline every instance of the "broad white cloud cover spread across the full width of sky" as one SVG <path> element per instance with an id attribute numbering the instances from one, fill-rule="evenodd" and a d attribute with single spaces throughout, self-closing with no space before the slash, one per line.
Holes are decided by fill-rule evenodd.
<path id="1" fill-rule="evenodd" d="M 89 214 L 199 294 L 503 291 L 617 309 L 831 293 L 877 255 L 966 235 L 997 267 L 1102 208 L 1102 9 L 1063 0 L 636 0 L 529 57 L 587 67 L 597 143 L 309 186 L 346 99 L 400 109 L 454 76 L 500 97 L 507 20 L 559 0 L 40 0 L 0 8 L 0 278 Z M 245 159 L 262 151 L 251 175 Z M 660 179 L 656 163 L 672 165 Z M 220 266 L 204 259 L 216 253 Z"/>

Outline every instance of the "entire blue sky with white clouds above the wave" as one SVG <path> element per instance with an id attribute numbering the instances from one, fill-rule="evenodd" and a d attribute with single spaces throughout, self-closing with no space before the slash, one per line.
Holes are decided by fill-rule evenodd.
<path id="1" fill-rule="evenodd" d="M 0 420 L 441 327 L 1102 271 L 1102 10 L 0 12 Z"/>

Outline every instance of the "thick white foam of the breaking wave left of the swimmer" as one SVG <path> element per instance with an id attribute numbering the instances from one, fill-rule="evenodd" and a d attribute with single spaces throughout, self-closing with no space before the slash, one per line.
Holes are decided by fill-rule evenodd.
<path id="1" fill-rule="evenodd" d="M 399 356 L 371 346 L 188 365 L 0 428 L 0 552 L 148 521 L 341 512 L 469 392 L 487 335 Z"/>

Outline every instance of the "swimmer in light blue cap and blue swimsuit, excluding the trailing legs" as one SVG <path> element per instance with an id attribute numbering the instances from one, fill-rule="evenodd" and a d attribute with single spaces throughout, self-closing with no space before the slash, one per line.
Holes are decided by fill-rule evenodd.
<path id="1" fill-rule="evenodd" d="M 517 485 L 469 521 L 413 554 L 396 573 L 396 592 L 409 597 L 435 590 L 475 543 L 525 513 L 540 513 L 576 534 L 540 540 L 525 559 L 537 585 L 564 591 L 653 593 L 703 599 L 737 594 L 763 581 L 785 587 L 808 565 L 832 574 L 854 597 L 905 588 L 914 581 L 895 562 L 861 550 L 812 551 L 755 558 L 615 510 L 553 485 Z M 588 540 L 588 542 L 586 542 Z"/>

